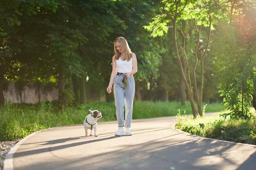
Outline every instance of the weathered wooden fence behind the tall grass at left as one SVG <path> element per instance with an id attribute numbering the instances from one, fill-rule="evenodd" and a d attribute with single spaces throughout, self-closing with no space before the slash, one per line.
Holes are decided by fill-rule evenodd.
<path id="1" fill-rule="evenodd" d="M 8 90 L 4 91 L 5 102 L 11 101 L 11 103 L 38 103 L 42 100 L 54 100 L 58 99 L 58 89 L 53 91 L 46 91 L 44 88 L 37 90 L 35 86 L 25 86 L 22 91 L 19 91 L 15 87 L 14 82 L 10 82 Z"/>

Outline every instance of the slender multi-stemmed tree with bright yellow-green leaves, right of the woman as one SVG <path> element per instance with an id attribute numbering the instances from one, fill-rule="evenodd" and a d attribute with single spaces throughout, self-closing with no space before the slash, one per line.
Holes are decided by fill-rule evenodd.
<path id="1" fill-rule="evenodd" d="M 193 111 L 193 116 L 196 117 L 198 114 L 202 116 L 202 93 L 204 87 L 204 58 L 209 49 L 209 43 L 211 39 L 211 29 L 213 29 L 213 24 L 216 24 L 216 20 L 213 20 L 213 16 L 219 17 L 217 9 L 217 2 L 211 0 L 207 1 L 193 1 L 193 0 L 181 0 L 181 1 L 170 1 L 162 0 L 164 7 L 162 7 L 162 14 L 157 15 L 153 18 L 153 22 L 149 26 L 145 26 L 148 31 L 153 31 L 151 35 L 153 37 L 162 36 L 164 33 L 167 33 L 169 28 L 173 29 L 173 43 L 175 46 L 175 54 L 177 63 L 180 68 L 180 73 L 182 79 L 184 80 L 186 90 L 188 92 L 189 101 L 191 103 L 191 108 Z M 215 13 L 213 12 L 215 9 Z M 183 30 L 180 24 L 184 20 L 187 23 L 187 26 Z M 170 24 L 170 25 L 168 25 Z M 189 36 L 189 30 L 194 26 L 194 30 L 198 33 L 197 43 L 195 49 L 193 50 L 193 55 L 195 57 L 195 64 L 193 66 L 192 77 L 190 77 L 190 67 L 189 60 L 186 55 L 188 50 L 186 49 L 186 39 Z M 198 28 L 199 26 L 199 28 Z M 206 44 L 204 44 L 204 53 L 202 55 L 198 54 L 200 47 L 200 42 L 202 42 L 201 31 L 202 27 L 208 27 L 208 38 Z M 180 54 L 179 46 L 177 45 L 177 30 L 179 30 L 183 35 L 183 47 L 182 54 Z M 187 76 L 184 72 L 183 60 L 187 67 Z M 200 61 L 200 84 L 196 80 L 196 69 L 198 66 L 198 61 Z M 193 85 L 192 85 L 193 83 Z M 197 102 L 197 108 L 195 106 L 195 101 Z"/>

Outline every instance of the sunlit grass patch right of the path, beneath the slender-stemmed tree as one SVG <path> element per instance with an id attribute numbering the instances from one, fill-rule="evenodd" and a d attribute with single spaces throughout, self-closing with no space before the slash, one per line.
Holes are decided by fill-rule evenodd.
<path id="1" fill-rule="evenodd" d="M 255 113 L 255 111 L 252 111 Z M 192 135 L 256 145 L 256 116 L 249 120 L 224 119 L 219 115 L 194 119 L 178 116 L 175 128 Z"/>

